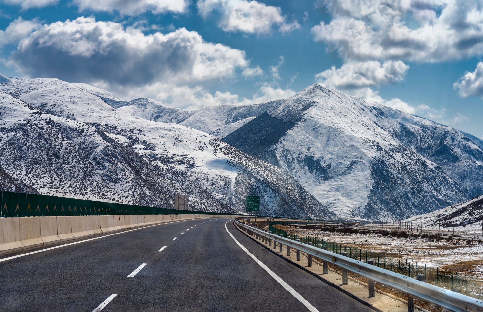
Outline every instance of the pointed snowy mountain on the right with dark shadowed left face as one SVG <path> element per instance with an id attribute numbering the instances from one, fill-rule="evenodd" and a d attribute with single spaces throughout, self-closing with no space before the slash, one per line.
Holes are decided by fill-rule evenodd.
<path id="1" fill-rule="evenodd" d="M 342 216 L 411 217 L 460 202 L 483 182 L 474 139 L 318 84 L 223 140 L 286 169 Z"/>

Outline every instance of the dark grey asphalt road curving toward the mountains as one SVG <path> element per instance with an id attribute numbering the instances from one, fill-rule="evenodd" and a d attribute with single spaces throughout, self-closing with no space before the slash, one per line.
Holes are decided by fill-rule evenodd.
<path id="1" fill-rule="evenodd" d="M 226 229 L 227 221 L 161 224 L 1 261 L 0 311 L 92 312 L 113 294 L 102 312 L 309 311 L 227 229 L 318 311 L 373 311 L 266 250 L 232 220 Z"/>

